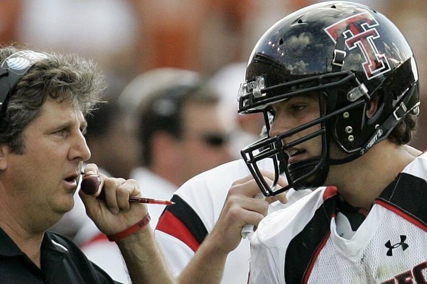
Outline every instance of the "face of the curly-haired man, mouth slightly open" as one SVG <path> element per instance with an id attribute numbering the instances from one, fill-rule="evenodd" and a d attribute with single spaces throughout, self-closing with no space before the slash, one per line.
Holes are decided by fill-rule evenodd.
<path id="1" fill-rule="evenodd" d="M 48 99 L 22 133 L 24 153 L 6 154 L 5 189 L 31 218 L 56 222 L 74 206 L 80 169 L 90 157 L 85 128 L 80 110 Z"/>

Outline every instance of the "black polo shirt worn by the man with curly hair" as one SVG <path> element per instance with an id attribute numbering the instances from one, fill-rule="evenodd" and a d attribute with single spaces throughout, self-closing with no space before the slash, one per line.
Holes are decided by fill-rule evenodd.
<path id="1" fill-rule="evenodd" d="M 90 262 L 70 239 L 46 232 L 41 246 L 41 269 L 0 228 L 0 283 L 2 284 L 116 284 Z"/>

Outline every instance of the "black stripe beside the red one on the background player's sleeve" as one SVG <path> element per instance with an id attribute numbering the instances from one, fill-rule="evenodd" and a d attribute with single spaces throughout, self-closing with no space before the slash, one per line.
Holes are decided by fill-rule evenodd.
<path id="1" fill-rule="evenodd" d="M 168 205 L 165 211 L 169 211 L 179 221 L 181 221 L 194 238 L 202 243 L 207 235 L 207 230 L 196 211 L 181 197 L 173 195 L 171 201 L 175 202 L 173 205 Z M 161 219 L 159 219 L 159 223 Z"/>

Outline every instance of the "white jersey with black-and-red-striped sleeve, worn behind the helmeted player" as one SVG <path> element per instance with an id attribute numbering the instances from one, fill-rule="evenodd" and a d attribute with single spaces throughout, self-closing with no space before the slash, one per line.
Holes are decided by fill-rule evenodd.
<path id="1" fill-rule="evenodd" d="M 272 170 L 266 163 L 261 168 Z M 184 270 L 200 243 L 214 228 L 231 184 L 249 174 L 245 162 L 236 160 L 193 177 L 175 192 L 172 197 L 175 204 L 166 207 L 155 232 L 174 275 Z M 290 190 L 288 204 L 308 193 L 311 190 Z M 275 202 L 270 205 L 269 211 L 288 204 Z M 243 239 L 227 257 L 222 283 L 245 283 L 249 257 L 249 241 Z"/>

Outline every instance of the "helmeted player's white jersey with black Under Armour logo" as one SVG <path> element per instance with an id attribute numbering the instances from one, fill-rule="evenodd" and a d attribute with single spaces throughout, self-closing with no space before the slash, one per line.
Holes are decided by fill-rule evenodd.
<path id="1" fill-rule="evenodd" d="M 264 218 L 251 240 L 250 283 L 427 283 L 427 153 L 388 185 L 352 231 L 322 187 Z"/>

